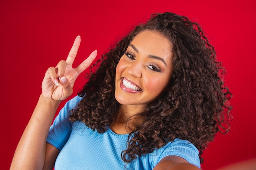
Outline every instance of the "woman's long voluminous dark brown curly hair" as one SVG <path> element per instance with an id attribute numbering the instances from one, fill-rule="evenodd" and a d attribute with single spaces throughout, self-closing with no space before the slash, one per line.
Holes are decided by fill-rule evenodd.
<path id="1" fill-rule="evenodd" d="M 173 73 L 168 90 L 139 113 L 144 121 L 129 134 L 121 157 L 129 163 L 180 138 L 198 148 L 202 163 L 202 152 L 216 133 L 229 131 L 232 95 L 224 86 L 225 69 L 216 61 L 216 51 L 199 24 L 175 13 L 151 15 L 101 56 L 78 93 L 84 97 L 70 111 L 70 120 L 83 121 L 99 133 L 107 130 L 120 108 L 115 99 L 116 66 L 133 38 L 144 30 L 158 31 L 171 41 Z"/>

